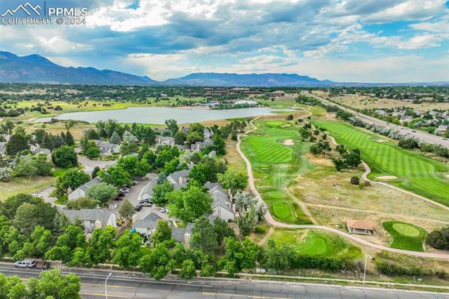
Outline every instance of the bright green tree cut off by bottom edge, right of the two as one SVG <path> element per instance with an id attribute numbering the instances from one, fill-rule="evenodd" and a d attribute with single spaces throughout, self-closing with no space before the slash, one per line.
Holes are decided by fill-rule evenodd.
<path id="1" fill-rule="evenodd" d="M 44 271 L 28 281 L 29 298 L 78 299 L 81 279 L 76 274 L 61 275 L 60 269 Z"/>

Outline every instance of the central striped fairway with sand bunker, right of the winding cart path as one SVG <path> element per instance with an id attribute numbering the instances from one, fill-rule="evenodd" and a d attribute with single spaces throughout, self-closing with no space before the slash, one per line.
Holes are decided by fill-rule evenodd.
<path id="1" fill-rule="evenodd" d="M 241 149 L 253 166 L 255 185 L 279 221 L 309 223 L 288 192 L 291 180 L 314 168 L 305 157 L 309 144 L 300 142 L 293 121 L 256 121 L 257 130 L 243 137 Z M 294 145 L 283 145 L 284 140 Z"/>

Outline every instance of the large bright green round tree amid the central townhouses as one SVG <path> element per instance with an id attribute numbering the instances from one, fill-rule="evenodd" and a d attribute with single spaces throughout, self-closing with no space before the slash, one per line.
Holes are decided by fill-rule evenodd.
<path id="1" fill-rule="evenodd" d="M 212 211 L 212 197 L 200 187 L 192 186 L 185 191 L 175 190 L 166 194 L 166 198 L 170 203 L 169 214 L 185 223 Z"/>

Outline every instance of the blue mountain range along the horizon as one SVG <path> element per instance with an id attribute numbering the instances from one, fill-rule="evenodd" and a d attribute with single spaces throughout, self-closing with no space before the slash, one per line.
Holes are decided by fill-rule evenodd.
<path id="1" fill-rule="evenodd" d="M 156 81 L 147 76 L 137 76 L 94 67 L 62 67 L 41 55 L 18 56 L 0 51 L 0 82 L 38 84 L 88 84 L 88 85 L 180 85 L 180 86 L 389 86 L 403 84 L 338 83 L 319 80 L 298 74 L 229 74 L 193 73 L 185 77 Z M 406 85 L 448 85 L 448 82 Z"/>

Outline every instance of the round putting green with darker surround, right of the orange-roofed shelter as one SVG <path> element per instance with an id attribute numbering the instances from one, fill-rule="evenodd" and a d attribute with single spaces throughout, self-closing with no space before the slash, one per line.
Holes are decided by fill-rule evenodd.
<path id="1" fill-rule="evenodd" d="M 383 225 L 393 238 L 390 247 L 423 251 L 422 242 L 427 235 L 426 230 L 407 222 L 394 220 L 385 221 Z"/>

